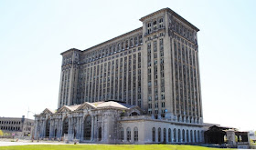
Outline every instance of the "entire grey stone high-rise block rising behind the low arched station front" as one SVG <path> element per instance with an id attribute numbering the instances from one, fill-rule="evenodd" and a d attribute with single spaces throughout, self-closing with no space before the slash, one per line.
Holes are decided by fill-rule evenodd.
<path id="1" fill-rule="evenodd" d="M 202 117 L 199 29 L 169 8 L 140 21 L 129 33 L 61 54 L 59 107 L 116 100 L 147 114 Z"/>

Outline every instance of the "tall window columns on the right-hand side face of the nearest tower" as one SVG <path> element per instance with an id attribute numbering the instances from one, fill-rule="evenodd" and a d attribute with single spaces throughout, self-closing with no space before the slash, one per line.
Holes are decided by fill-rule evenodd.
<path id="1" fill-rule="evenodd" d="M 174 41 L 176 114 L 199 116 L 199 95 L 197 90 L 197 54 L 186 45 Z"/>

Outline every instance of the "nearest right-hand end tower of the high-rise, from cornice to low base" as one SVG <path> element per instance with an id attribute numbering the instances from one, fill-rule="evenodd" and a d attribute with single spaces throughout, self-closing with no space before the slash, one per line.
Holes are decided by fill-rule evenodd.
<path id="1" fill-rule="evenodd" d="M 169 8 L 143 22 L 143 104 L 148 114 L 202 121 L 197 29 Z"/>

